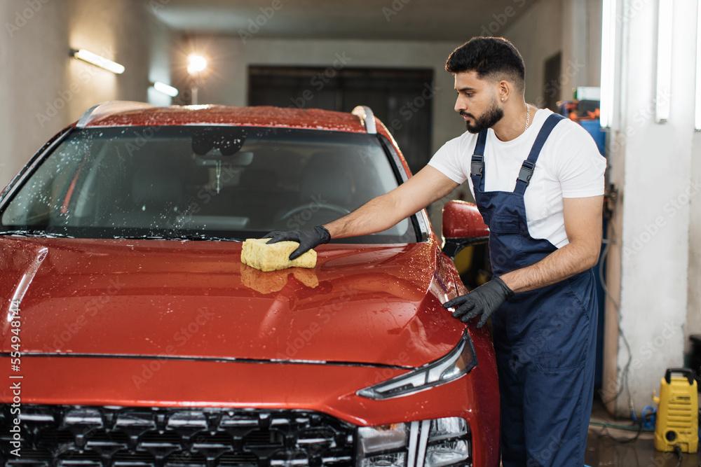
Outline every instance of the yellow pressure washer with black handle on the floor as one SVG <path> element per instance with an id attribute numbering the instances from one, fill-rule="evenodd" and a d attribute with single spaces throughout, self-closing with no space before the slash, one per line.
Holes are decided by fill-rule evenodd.
<path id="1" fill-rule="evenodd" d="M 674 374 L 681 374 L 676 376 Z M 689 368 L 667 368 L 660 379 L 660 396 L 655 421 L 655 449 L 662 452 L 696 452 L 698 449 L 698 386 Z"/>

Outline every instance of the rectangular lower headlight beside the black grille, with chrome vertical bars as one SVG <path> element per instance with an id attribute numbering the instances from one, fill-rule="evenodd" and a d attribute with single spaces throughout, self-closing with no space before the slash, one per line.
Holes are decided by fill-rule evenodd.
<path id="1" fill-rule="evenodd" d="M 358 467 L 441 467 L 471 459 L 470 430 L 461 417 L 358 428 Z"/>

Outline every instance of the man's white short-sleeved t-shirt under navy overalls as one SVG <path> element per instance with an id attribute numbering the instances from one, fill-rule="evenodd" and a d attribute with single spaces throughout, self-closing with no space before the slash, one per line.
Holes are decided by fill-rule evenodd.
<path id="1" fill-rule="evenodd" d="M 487 130 L 485 191 L 513 191 L 516 188 L 521 165 L 551 113 L 550 109 L 538 109 L 528 129 L 510 141 L 501 141 L 494 130 Z M 472 197 L 475 197 L 475 188 L 470 179 L 470 161 L 475 144 L 477 134 L 465 131 L 444 144 L 428 161 L 428 165 L 456 183 L 467 180 Z M 599 154 L 597 144 L 587 130 L 569 118 L 557 123 L 538 155 L 533 176 L 524 193 L 531 237 L 547 239 L 557 248 L 568 244 L 562 198 L 603 195 L 605 170 L 606 158 Z"/>

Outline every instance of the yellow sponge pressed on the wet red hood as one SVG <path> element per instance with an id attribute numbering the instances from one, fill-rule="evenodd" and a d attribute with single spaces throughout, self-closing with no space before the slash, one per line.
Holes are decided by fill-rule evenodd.
<path id="1" fill-rule="evenodd" d="M 296 250 L 299 242 L 283 240 L 268 244 L 269 238 L 247 238 L 241 249 L 241 263 L 261 271 L 275 271 L 286 267 L 315 267 L 316 251 L 305 251 L 290 261 L 290 253 Z"/>

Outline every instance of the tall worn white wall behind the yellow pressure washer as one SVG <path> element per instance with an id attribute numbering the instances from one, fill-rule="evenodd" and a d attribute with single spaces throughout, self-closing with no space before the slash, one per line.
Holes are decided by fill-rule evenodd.
<path id="1" fill-rule="evenodd" d="M 665 4 L 666 5 L 666 4 Z M 627 390 L 608 409 L 627 416 L 651 402 L 668 367 L 683 363 L 688 331 L 699 330 L 701 157 L 693 132 L 695 14 L 674 3 L 671 117 L 655 123 L 655 2 L 620 11 L 619 90 L 609 141 L 611 181 L 620 190 L 608 262 L 612 300 L 606 307 L 604 391 Z M 693 92 L 692 92 L 693 93 Z M 618 302 L 618 303 L 616 303 Z M 618 305 L 618 306 L 617 306 Z"/>

